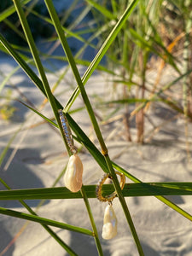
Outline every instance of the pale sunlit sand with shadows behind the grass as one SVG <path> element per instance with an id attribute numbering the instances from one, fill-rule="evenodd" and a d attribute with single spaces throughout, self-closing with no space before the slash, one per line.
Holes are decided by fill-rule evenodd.
<path id="1" fill-rule="evenodd" d="M 1 59 L 0 68 L 3 73 L 8 74 L 15 66 L 15 62 Z M 64 69 L 61 67 L 57 73 L 49 73 L 49 83 L 53 85 Z M 84 68 L 80 68 L 81 72 Z M 154 73 L 149 73 L 149 79 L 153 80 Z M 166 79 L 171 79 L 170 72 L 164 74 Z M 4 92 L 12 88 L 15 84 L 28 100 L 36 107 L 40 106 L 44 100 L 38 89 L 20 71 L 10 79 Z M 55 96 L 65 105 L 68 96 L 73 91 L 75 83 L 71 72 L 67 73 Z M 103 101 L 108 98 L 115 99 L 121 94 L 118 87 L 116 91 L 112 84 L 106 81 L 106 76 L 95 74 L 86 85 L 86 89 L 91 99 L 91 103 L 96 109 L 96 113 L 105 117 L 113 111 L 113 108 L 101 108 Z M 20 97 L 18 91 L 13 90 L 13 96 Z M 100 103 L 100 104 L 98 104 Z M 24 122 L 25 127 L 39 124 L 40 119 L 31 113 L 19 102 L 13 103 L 16 112 L 9 121 L 1 120 L 0 129 L 0 148 L 7 145 L 9 138 L 13 136 L 20 125 Z M 73 109 L 82 107 L 83 102 L 79 97 Z M 53 113 L 48 104 L 42 110 L 44 115 L 49 118 Z M 119 111 L 123 113 L 123 109 Z M 118 114 L 119 114 L 118 113 Z M 184 122 L 183 119 L 174 117 L 176 113 L 168 110 L 165 106 L 153 106 L 150 110 L 150 118 L 154 125 L 158 126 L 165 123 L 160 131 L 154 133 L 151 140 L 141 146 L 136 143 L 128 143 L 125 140 L 125 127 L 122 119 L 101 125 L 103 136 L 108 145 L 109 155 L 112 160 L 129 170 L 133 175 L 145 182 L 174 182 L 192 180 L 192 161 L 187 160 L 185 151 Z M 90 119 L 85 110 L 74 113 L 73 118 L 80 125 L 87 135 L 96 142 L 96 137 L 92 132 Z M 169 120 L 172 119 L 171 122 Z M 152 134 L 153 127 L 149 123 L 146 127 L 146 134 Z M 136 130 L 134 122 L 131 122 L 131 134 L 135 139 Z M 189 124 L 189 146 L 191 149 L 192 129 Z M 190 152 L 191 153 L 191 152 Z M 9 163 L 9 159 L 13 155 Z M 79 154 L 84 164 L 84 184 L 97 183 L 102 177 L 102 170 L 93 160 L 91 155 L 85 150 Z M 14 143 L 9 148 L 9 154 L 3 162 L 1 177 L 13 189 L 20 188 L 48 188 L 54 183 L 56 177 L 61 173 L 67 164 L 66 149 L 63 147 L 61 136 L 51 125 L 37 125 L 32 129 L 21 131 L 15 138 Z M 128 169 L 129 168 L 129 169 Z M 128 179 L 126 182 L 129 182 Z M 57 186 L 63 186 L 62 180 Z M 4 189 L 0 184 L 0 189 Z M 192 214 L 192 201 L 190 196 L 170 196 L 173 202 L 179 207 Z M 27 201 L 27 204 L 35 209 L 39 201 Z M 126 199 L 131 212 L 131 217 L 137 229 L 137 234 L 141 240 L 143 251 L 146 256 L 191 256 L 192 255 L 192 224 L 177 212 L 166 207 L 162 202 L 154 197 L 137 197 Z M 16 211 L 26 212 L 16 201 L 0 201 L 1 207 L 9 207 Z M 101 236 L 102 218 L 105 203 L 96 199 L 90 200 L 93 215 L 96 220 L 96 227 Z M 119 205 L 119 201 L 113 201 L 114 211 L 118 217 L 118 236 L 113 240 L 105 241 L 102 239 L 102 248 L 105 256 L 137 256 L 137 248 L 131 236 L 130 229 L 126 224 L 124 214 Z M 54 218 L 67 224 L 78 225 L 91 229 L 90 220 L 86 213 L 83 200 L 52 200 L 46 201 L 44 206 L 38 209 L 38 214 L 45 218 Z M 39 224 L 26 222 L 25 220 L 0 216 L 0 255 L 4 256 L 63 256 L 67 253 L 56 241 L 49 236 L 44 228 Z M 63 239 L 79 256 L 97 255 L 96 245 L 93 238 L 79 235 L 77 233 L 53 229 L 58 236 Z M 6 253 L 1 254 L 3 249 L 20 232 L 20 236 L 15 239 Z"/>

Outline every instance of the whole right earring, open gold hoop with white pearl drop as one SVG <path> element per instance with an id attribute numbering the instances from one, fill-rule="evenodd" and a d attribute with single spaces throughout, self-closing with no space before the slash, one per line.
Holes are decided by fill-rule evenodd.
<path id="1" fill-rule="evenodd" d="M 115 172 L 120 176 L 120 188 L 123 189 L 125 186 L 125 176 L 120 172 Z M 112 201 L 117 195 L 117 192 L 114 191 L 110 195 L 102 195 L 102 185 L 105 183 L 107 178 L 110 177 L 109 173 L 103 175 L 96 185 L 96 197 L 99 201 L 108 201 L 108 206 L 105 208 L 103 226 L 102 226 L 102 238 L 103 239 L 112 239 L 117 235 L 117 217 L 112 207 Z"/>

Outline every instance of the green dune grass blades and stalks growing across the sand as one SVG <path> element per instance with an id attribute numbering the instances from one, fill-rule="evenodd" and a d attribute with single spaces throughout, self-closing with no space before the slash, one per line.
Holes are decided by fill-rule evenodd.
<path id="1" fill-rule="evenodd" d="M 26 5 L 29 3 L 31 5 Z M 78 3 L 78 1 L 74 1 Z M 189 86 L 189 79 L 191 76 L 192 69 L 189 66 L 189 43 L 191 42 L 191 14 L 192 7 L 187 1 L 144 1 L 144 0 L 132 0 L 129 4 L 127 1 L 110 1 L 109 4 L 105 2 L 100 3 L 96 1 L 87 0 L 84 2 L 84 9 L 80 13 L 76 23 L 71 24 L 68 27 L 63 26 L 65 24 L 64 18 L 60 19 L 59 15 L 55 10 L 55 6 L 51 0 L 44 0 L 49 17 L 45 15 L 39 15 L 33 6 L 37 1 L 20 1 L 13 0 L 13 5 L 8 9 L 3 10 L 0 15 L 0 21 L 5 22 L 13 13 L 17 13 L 18 19 L 20 20 L 20 25 L 22 27 L 21 31 L 18 27 L 14 27 L 9 22 L 6 21 L 6 25 L 9 29 L 15 28 L 15 33 L 20 36 L 20 38 L 25 38 L 27 42 L 27 47 L 16 46 L 15 44 L 10 44 L 9 41 L 4 37 L 3 33 L 0 34 L 0 49 L 7 55 L 13 57 L 18 63 L 18 67 L 23 69 L 27 74 L 28 78 L 33 84 L 37 86 L 37 91 L 43 93 L 47 98 L 47 101 L 43 102 L 39 108 L 30 106 L 28 102 L 20 101 L 22 104 L 29 108 L 32 113 L 38 114 L 50 125 L 54 125 L 61 131 L 61 137 L 64 142 L 64 147 L 67 148 L 67 152 L 70 154 L 66 138 L 63 134 L 61 122 L 59 119 L 58 109 L 63 109 L 66 113 L 67 120 L 71 129 L 75 134 L 75 139 L 86 148 L 96 162 L 101 166 L 103 172 L 109 172 L 113 177 L 113 185 L 105 185 L 104 190 L 110 193 L 114 189 L 117 191 L 119 202 L 125 213 L 125 218 L 127 224 L 131 229 L 131 234 L 136 243 L 139 255 L 144 255 L 143 248 L 139 237 L 137 236 L 137 230 L 134 227 L 134 223 L 131 219 L 131 214 L 125 202 L 126 196 L 155 196 L 158 200 L 164 202 L 168 207 L 179 212 L 183 217 L 192 220 L 192 216 L 185 212 L 182 208 L 177 207 L 172 201 L 167 200 L 163 195 L 191 195 L 191 183 L 142 183 L 139 178 L 131 175 L 130 172 L 124 170 L 121 166 L 113 163 L 110 159 L 110 152 L 108 153 L 108 148 L 102 137 L 102 131 L 96 119 L 96 114 L 91 106 L 89 96 L 86 92 L 85 84 L 93 75 L 96 70 L 102 70 L 102 72 L 113 74 L 113 83 L 123 84 L 124 90 L 122 93 L 122 98 L 116 101 L 104 102 L 105 104 L 115 104 L 115 108 L 124 108 L 125 115 L 128 116 L 126 122 L 126 128 L 128 132 L 128 139 L 131 141 L 131 131 L 129 129 L 130 119 L 136 117 L 136 129 L 137 129 L 137 140 L 136 143 L 145 142 L 145 118 L 148 115 L 148 108 L 154 102 L 162 102 L 167 108 L 172 108 L 176 113 L 183 114 L 185 118 L 185 132 L 186 132 L 186 145 L 187 152 L 189 155 L 189 144 L 188 142 L 188 122 L 192 119 L 191 111 L 191 96 L 192 90 Z M 170 7 L 173 9 L 170 9 Z M 120 8 L 119 8 L 120 7 Z M 71 6 L 70 11 L 68 10 L 67 16 L 75 8 L 75 4 Z M 88 23 L 87 27 L 84 27 L 82 31 L 76 32 L 74 27 L 78 26 L 79 23 L 84 20 L 85 15 L 91 11 L 91 15 L 94 18 L 93 26 Z M 37 15 L 39 19 L 44 20 L 49 25 L 53 26 L 55 29 L 55 37 L 49 38 L 49 40 L 55 41 L 55 47 L 57 42 L 61 44 L 63 49 L 63 57 L 56 55 L 44 55 L 42 57 L 45 59 L 61 59 L 67 63 L 67 68 L 61 77 L 56 81 L 54 89 L 50 88 L 49 80 L 46 76 L 46 68 L 44 67 L 43 61 L 39 57 L 39 51 L 37 45 L 32 36 L 32 31 L 28 25 L 27 15 L 32 13 Z M 179 42 L 183 44 L 183 58 L 184 58 L 184 68 L 180 69 L 179 66 L 179 56 L 174 55 L 173 46 L 177 46 L 178 39 L 176 40 L 176 32 L 174 27 L 170 29 L 170 38 L 166 38 L 163 33 L 160 33 L 159 24 L 162 27 L 167 26 L 170 19 L 170 15 L 177 14 L 178 22 L 182 23 L 182 31 L 179 31 L 182 36 Z M 164 19 L 164 16 L 167 18 Z M 165 25 L 166 24 L 166 25 Z M 174 32 L 173 32 L 174 31 Z M 91 36 L 88 40 L 84 39 L 84 34 L 91 32 Z M 72 49 L 70 49 L 67 44 L 67 38 L 76 38 L 79 40 L 83 46 L 78 50 L 78 52 L 73 55 Z M 94 39 L 97 38 L 97 45 L 94 44 Z M 166 39 L 165 39 L 166 38 Z M 169 44 L 166 44 L 166 40 Z M 182 41 L 183 40 L 183 41 Z M 171 43 L 170 43 L 171 41 Z M 91 61 L 84 61 L 81 58 L 82 54 L 87 47 L 92 47 L 97 49 L 96 56 Z M 30 55 L 29 55 L 30 54 Z M 41 53 L 40 53 L 41 54 Z M 107 58 L 107 63 L 105 66 L 101 64 L 103 57 Z M 153 59 L 156 58 L 157 61 L 161 61 L 160 68 L 158 69 L 158 77 L 154 84 L 148 88 L 147 72 L 148 65 Z M 36 68 L 37 73 L 32 70 L 32 66 Z M 78 64 L 84 65 L 86 68 L 83 76 L 80 76 Z M 165 84 L 163 87 L 158 86 L 160 77 L 163 76 L 163 68 L 169 65 L 177 73 L 177 79 L 173 79 L 171 83 Z M 69 97 L 68 101 L 65 102 L 65 106 L 61 105 L 56 96 L 54 96 L 54 90 L 59 86 L 61 79 L 67 73 L 67 69 L 71 68 L 73 72 L 73 77 L 76 81 L 77 87 L 73 90 L 73 94 Z M 13 73 L 17 72 L 17 68 Z M 11 73 L 9 77 L 13 75 Z M 3 79 L 3 83 L 0 84 L 0 89 L 2 90 L 8 81 L 9 77 Z M 137 78 L 137 79 L 136 79 Z M 183 101 L 180 102 L 174 97 L 170 98 L 167 96 L 166 92 L 178 81 L 183 81 Z M 149 93 L 148 93 L 149 92 Z M 100 148 L 96 148 L 96 145 L 90 141 L 90 138 L 84 134 L 79 125 L 75 122 L 72 115 L 69 114 L 70 108 L 73 106 L 73 102 L 81 94 L 84 101 L 84 108 L 86 108 L 87 113 L 89 113 L 91 124 L 96 133 L 98 142 L 100 143 Z M 50 120 L 41 113 L 41 108 L 44 108 L 44 104 L 49 104 L 52 108 L 54 120 Z M 134 107 L 134 108 L 132 108 Z M 78 110 L 77 110 L 78 111 Z M 15 137 L 19 131 L 16 131 L 13 137 L 10 139 L 8 145 L 3 150 L 1 154 L 0 165 L 5 159 L 7 151 L 13 143 Z M 130 185 L 130 190 L 124 189 L 123 191 L 119 187 L 119 181 L 116 177 L 114 169 L 125 174 L 126 177 L 131 179 L 135 184 Z M 65 168 L 63 170 L 65 172 Z M 62 173 L 63 173 L 62 172 Z M 61 175 L 62 175 L 61 173 Z M 59 180 L 58 177 L 57 180 Z M 69 247 L 64 241 L 61 240 L 59 236 L 55 234 L 53 230 L 49 228 L 50 226 L 56 226 L 61 229 L 73 230 L 75 232 L 80 232 L 86 234 L 87 236 L 93 236 L 96 242 L 98 255 L 103 255 L 101 241 L 96 230 L 96 224 L 91 212 L 89 198 L 96 198 L 95 195 L 95 185 L 83 186 L 81 191 L 77 194 L 69 192 L 67 189 L 52 188 L 49 189 L 24 189 L 12 190 L 9 185 L 0 178 L 0 182 L 9 189 L 9 191 L 0 191 L 0 200 L 18 200 L 20 203 L 26 207 L 30 214 L 11 211 L 3 207 L 0 208 L 0 213 L 9 215 L 15 218 L 25 218 L 34 222 L 42 224 L 44 229 L 49 232 L 55 241 L 59 242 L 61 247 L 63 247 L 67 253 L 70 255 L 78 255 L 75 253 L 75 249 Z M 56 181 L 55 181 L 56 183 Z M 132 193 L 132 194 L 131 194 Z M 73 198 L 77 200 L 78 198 L 83 198 L 85 207 L 90 217 L 90 224 L 92 230 L 84 230 L 79 227 L 73 227 L 68 224 L 62 224 L 55 222 L 51 219 L 38 217 L 37 213 L 34 212 L 30 207 L 26 205 L 23 201 L 25 199 L 54 199 L 54 198 Z"/>

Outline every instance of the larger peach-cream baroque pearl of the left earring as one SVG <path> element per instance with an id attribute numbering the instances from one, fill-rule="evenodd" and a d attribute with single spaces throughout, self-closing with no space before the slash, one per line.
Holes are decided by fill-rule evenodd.
<path id="1" fill-rule="evenodd" d="M 77 154 L 70 156 L 67 170 L 64 174 L 64 183 L 67 189 L 78 192 L 82 187 L 83 164 Z"/>

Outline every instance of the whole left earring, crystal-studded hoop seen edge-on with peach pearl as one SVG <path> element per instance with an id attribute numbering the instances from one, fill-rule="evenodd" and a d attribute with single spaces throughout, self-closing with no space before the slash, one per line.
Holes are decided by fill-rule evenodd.
<path id="1" fill-rule="evenodd" d="M 73 136 L 70 126 L 68 125 L 67 118 L 61 109 L 58 110 L 58 112 L 60 115 L 61 125 L 66 137 L 67 145 L 69 146 L 72 153 L 67 164 L 67 170 L 64 174 L 64 183 L 67 189 L 71 190 L 72 192 L 78 192 L 82 187 L 82 176 L 84 168 L 77 154 L 77 150 L 74 147 Z"/>

